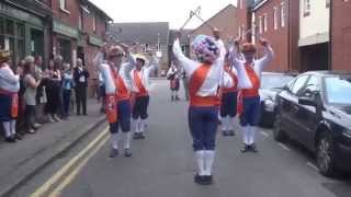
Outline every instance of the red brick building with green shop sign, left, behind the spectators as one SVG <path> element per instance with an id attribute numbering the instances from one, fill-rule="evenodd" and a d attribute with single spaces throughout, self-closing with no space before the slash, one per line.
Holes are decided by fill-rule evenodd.
<path id="1" fill-rule="evenodd" d="M 112 19 L 88 0 L 52 0 L 52 10 L 53 55 L 71 65 L 81 58 L 91 76 L 89 95 L 93 95 L 98 72 L 92 59 Z"/>

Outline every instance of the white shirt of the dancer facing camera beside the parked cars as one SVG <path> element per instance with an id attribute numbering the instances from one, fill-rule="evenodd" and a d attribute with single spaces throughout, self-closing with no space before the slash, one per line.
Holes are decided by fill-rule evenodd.
<path id="1" fill-rule="evenodd" d="M 251 84 L 251 81 L 246 72 L 246 69 L 245 69 L 246 60 L 239 59 L 238 57 L 240 57 L 240 55 L 238 55 L 236 53 L 236 50 L 231 50 L 230 53 L 234 54 L 231 57 L 233 57 L 234 66 L 236 67 L 237 73 L 238 73 L 238 76 L 237 76 L 238 77 L 238 88 L 239 89 L 251 89 L 252 84 Z M 262 58 L 256 59 L 252 62 L 253 70 L 259 78 L 261 78 L 263 69 L 272 61 L 272 59 L 274 57 L 274 51 L 270 46 L 264 47 L 264 54 L 265 55 Z"/>

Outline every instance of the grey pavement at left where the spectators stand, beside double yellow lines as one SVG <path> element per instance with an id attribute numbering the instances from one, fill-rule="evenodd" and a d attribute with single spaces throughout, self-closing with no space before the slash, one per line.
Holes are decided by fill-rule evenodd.
<path id="1" fill-rule="evenodd" d="M 21 184 L 49 165 L 87 134 L 104 121 L 100 104 L 88 101 L 88 116 L 72 115 L 69 120 L 45 124 L 35 135 L 16 143 L 0 142 L 0 196 L 8 196 Z"/>

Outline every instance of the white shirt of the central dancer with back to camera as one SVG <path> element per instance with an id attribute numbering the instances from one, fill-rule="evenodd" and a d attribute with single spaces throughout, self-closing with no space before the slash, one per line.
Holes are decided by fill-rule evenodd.
<path id="1" fill-rule="evenodd" d="M 218 40 L 218 42 L 222 42 L 222 40 Z M 224 45 L 218 45 L 218 47 L 220 47 L 219 57 L 211 66 L 211 69 L 206 76 L 205 81 L 203 82 L 202 86 L 196 93 L 199 96 L 215 96 L 217 95 L 218 86 L 224 85 L 222 77 L 224 72 L 223 67 L 224 67 L 224 58 L 225 58 L 226 50 L 224 48 Z M 189 79 L 191 79 L 191 76 L 194 73 L 194 71 L 202 66 L 201 62 L 194 61 L 184 56 L 184 54 L 181 50 L 178 38 L 174 40 L 173 54 L 177 57 L 177 59 L 180 61 L 180 65 L 184 68 L 184 71 L 189 77 Z"/>

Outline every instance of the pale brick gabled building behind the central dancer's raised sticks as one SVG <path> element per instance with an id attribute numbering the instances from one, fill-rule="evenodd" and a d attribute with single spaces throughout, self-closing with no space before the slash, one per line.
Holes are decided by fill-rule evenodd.
<path id="1" fill-rule="evenodd" d="M 226 8 L 222 9 L 217 14 L 208 19 L 205 23 L 200 25 L 190 34 L 190 43 L 200 35 L 211 35 L 212 28 L 208 26 L 215 26 L 222 31 L 222 39 L 227 43 L 231 37 L 237 36 L 238 24 L 236 22 L 237 8 L 233 4 L 228 4 Z M 191 53 L 191 57 L 193 57 Z"/>

